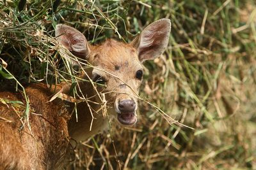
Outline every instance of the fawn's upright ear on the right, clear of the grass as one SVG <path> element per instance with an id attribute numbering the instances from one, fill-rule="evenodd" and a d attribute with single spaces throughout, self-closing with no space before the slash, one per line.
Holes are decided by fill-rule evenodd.
<path id="1" fill-rule="evenodd" d="M 171 22 L 163 18 L 148 25 L 134 38 L 131 45 L 138 50 L 141 62 L 159 57 L 168 45 L 171 31 Z"/>

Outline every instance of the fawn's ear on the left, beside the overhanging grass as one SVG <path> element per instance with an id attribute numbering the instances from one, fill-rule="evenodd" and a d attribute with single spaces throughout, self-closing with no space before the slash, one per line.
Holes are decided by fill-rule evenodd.
<path id="1" fill-rule="evenodd" d="M 88 41 L 77 29 L 68 25 L 58 24 L 55 29 L 55 36 L 57 41 L 65 46 L 73 55 L 81 59 L 88 59 L 90 53 Z M 74 62 L 72 60 L 72 64 Z"/>

